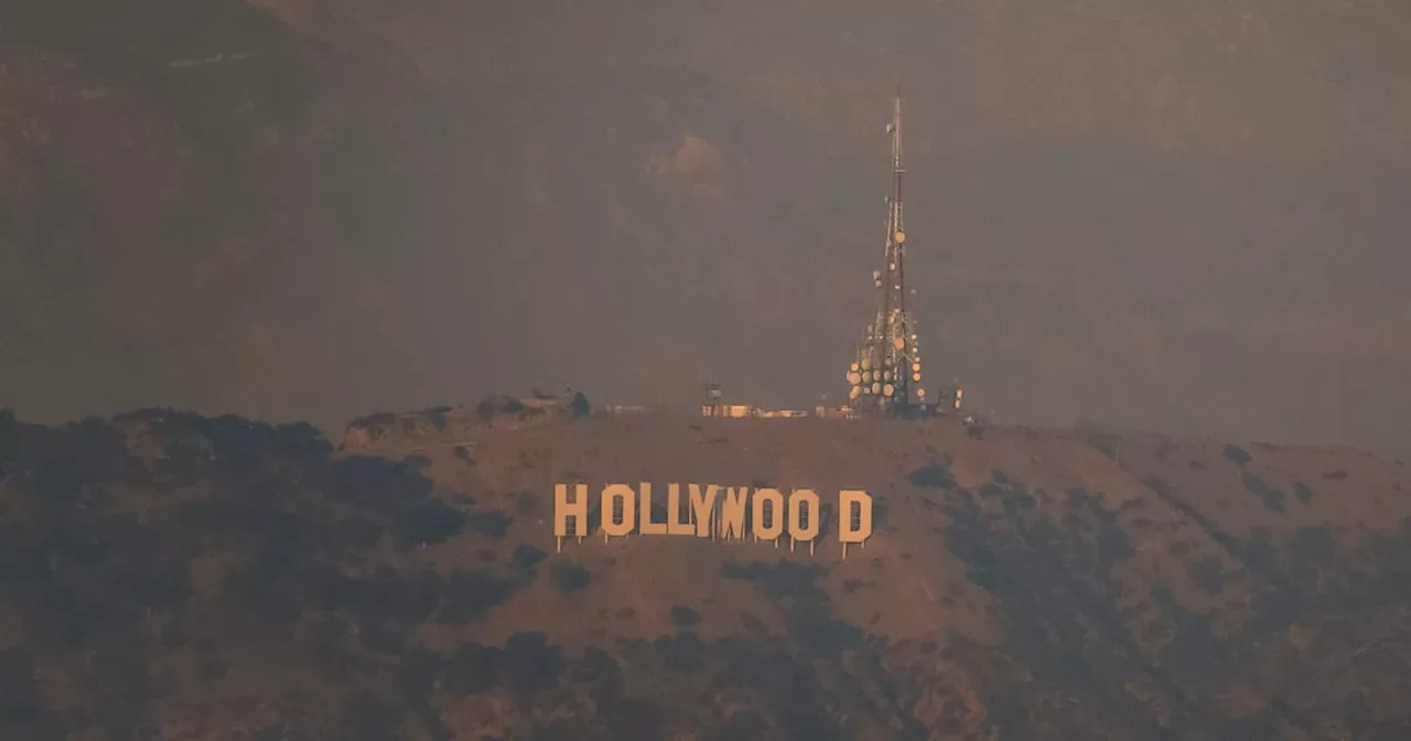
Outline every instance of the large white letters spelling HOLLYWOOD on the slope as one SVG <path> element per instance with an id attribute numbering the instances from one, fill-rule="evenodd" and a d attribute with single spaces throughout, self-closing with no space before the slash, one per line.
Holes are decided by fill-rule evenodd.
<path id="1" fill-rule="evenodd" d="M 560 552 L 564 538 L 583 542 L 588 535 L 588 487 L 573 484 L 571 491 L 570 498 L 569 484 L 553 487 L 553 534 Z M 807 543 L 809 553 L 813 553 L 823 529 L 818 494 L 811 488 L 796 488 L 785 497 L 777 488 L 687 484 L 683 493 L 682 484 L 667 484 L 665 505 L 665 518 L 655 521 L 652 484 L 642 483 L 636 488 L 628 484 L 602 487 L 597 510 L 604 542 L 629 535 L 713 541 L 744 541 L 751 536 L 755 542 L 773 542 L 779 548 L 779 539 L 787 535 L 790 550 L 797 543 Z M 849 543 L 866 548 L 866 541 L 872 536 L 872 495 L 861 490 L 840 491 L 837 514 L 838 542 L 842 543 L 842 558 L 848 558 Z"/>

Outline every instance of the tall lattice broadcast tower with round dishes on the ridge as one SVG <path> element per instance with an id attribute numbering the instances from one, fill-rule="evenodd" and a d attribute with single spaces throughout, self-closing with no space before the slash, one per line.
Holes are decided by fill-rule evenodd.
<path id="1" fill-rule="evenodd" d="M 848 399 L 861 414 L 897 414 L 926 405 L 916 320 L 906 308 L 906 206 L 902 198 L 902 90 L 892 104 L 892 193 L 886 199 L 883 270 L 872 271 L 878 313 L 848 370 Z"/>

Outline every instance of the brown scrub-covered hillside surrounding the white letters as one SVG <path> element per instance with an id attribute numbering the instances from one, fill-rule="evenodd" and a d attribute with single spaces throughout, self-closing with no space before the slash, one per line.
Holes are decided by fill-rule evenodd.
<path id="1" fill-rule="evenodd" d="M 375 432 L 373 432 L 375 430 Z M 1404 738 L 1411 473 L 945 421 L 0 416 L 4 738 Z M 557 481 L 862 487 L 842 560 Z M 825 498 L 827 501 L 827 498 Z"/>

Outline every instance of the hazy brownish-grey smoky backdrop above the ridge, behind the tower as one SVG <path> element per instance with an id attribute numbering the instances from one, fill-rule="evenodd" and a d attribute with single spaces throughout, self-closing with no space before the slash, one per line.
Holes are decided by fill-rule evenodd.
<path id="1" fill-rule="evenodd" d="M 1404 3 L 107 6 L 0 11 L 24 418 L 837 402 L 902 85 L 933 384 L 1411 446 Z"/>

